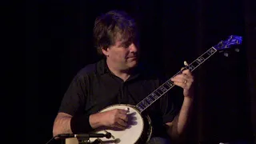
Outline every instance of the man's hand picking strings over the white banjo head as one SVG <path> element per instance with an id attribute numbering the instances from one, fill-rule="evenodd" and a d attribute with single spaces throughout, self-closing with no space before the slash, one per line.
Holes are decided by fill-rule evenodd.
<path id="1" fill-rule="evenodd" d="M 114 109 L 90 115 L 90 125 L 93 128 L 97 128 L 99 126 L 108 126 L 126 129 L 127 122 L 127 110 L 122 109 Z"/>

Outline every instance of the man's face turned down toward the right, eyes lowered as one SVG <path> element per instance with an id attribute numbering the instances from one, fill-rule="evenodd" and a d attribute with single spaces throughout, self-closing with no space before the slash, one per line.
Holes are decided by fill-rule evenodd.
<path id="1" fill-rule="evenodd" d="M 138 64 L 138 44 L 117 39 L 105 50 L 107 60 L 118 70 L 129 70 Z"/>

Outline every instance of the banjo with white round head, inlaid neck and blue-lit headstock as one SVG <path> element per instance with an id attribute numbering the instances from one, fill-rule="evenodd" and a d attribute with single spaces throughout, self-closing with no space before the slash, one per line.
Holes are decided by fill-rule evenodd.
<path id="1" fill-rule="evenodd" d="M 236 35 L 230 35 L 225 41 L 218 42 L 216 46 L 212 46 L 209 50 L 206 50 L 205 53 L 200 55 L 186 66 L 184 70 L 195 70 L 203 62 L 206 62 L 208 58 L 214 55 L 217 51 L 224 52 L 224 55 L 227 56 L 225 52 L 226 49 L 230 49 L 232 45 L 241 45 L 242 37 Z M 238 52 L 238 49 L 235 49 Z M 182 71 L 179 71 L 174 76 L 181 74 Z M 173 76 L 173 77 L 174 77 Z M 147 114 L 144 114 L 143 111 L 146 110 L 151 104 L 156 102 L 158 98 L 162 97 L 163 94 L 166 94 L 172 87 L 174 83 L 169 80 L 164 82 L 151 94 L 146 96 L 141 102 L 138 102 L 136 106 L 128 104 L 117 104 L 104 108 L 99 112 L 104 112 L 107 110 L 114 109 L 123 109 L 128 110 L 128 127 L 126 130 L 115 130 L 114 128 L 99 127 L 94 130 L 93 134 L 111 134 L 110 138 L 89 138 L 89 142 L 81 142 L 78 138 L 66 138 L 66 144 L 78 144 L 78 143 L 107 143 L 107 144 L 130 144 L 130 143 L 146 143 L 150 140 L 152 134 L 152 126 L 150 124 L 150 117 Z"/>

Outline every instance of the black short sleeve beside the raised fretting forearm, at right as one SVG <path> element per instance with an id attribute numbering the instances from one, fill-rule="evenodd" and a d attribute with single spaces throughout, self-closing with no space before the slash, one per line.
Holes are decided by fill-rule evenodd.
<path id="1" fill-rule="evenodd" d="M 174 86 L 160 98 L 160 110 L 164 123 L 172 122 L 179 113 L 183 102 L 182 94 L 182 88 Z"/>

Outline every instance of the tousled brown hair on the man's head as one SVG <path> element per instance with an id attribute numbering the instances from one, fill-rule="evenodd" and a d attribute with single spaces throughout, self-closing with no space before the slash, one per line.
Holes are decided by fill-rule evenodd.
<path id="1" fill-rule="evenodd" d="M 98 54 L 102 54 L 102 48 L 106 50 L 114 45 L 117 38 L 134 41 L 137 36 L 134 19 L 124 11 L 111 10 L 96 18 L 94 22 L 94 45 Z"/>

